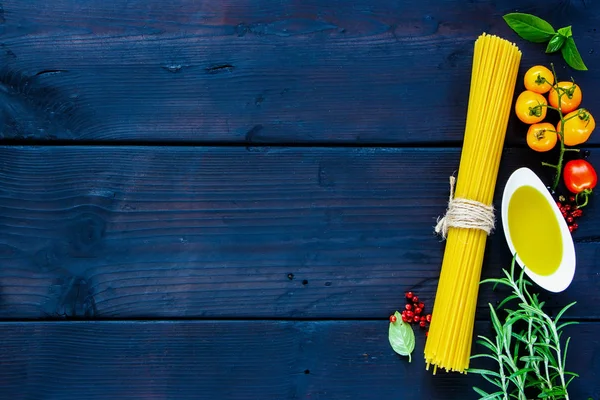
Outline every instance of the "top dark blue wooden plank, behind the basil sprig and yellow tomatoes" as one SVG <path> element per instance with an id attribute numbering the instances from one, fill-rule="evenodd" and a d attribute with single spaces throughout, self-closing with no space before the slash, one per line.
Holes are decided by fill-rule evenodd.
<path id="1" fill-rule="evenodd" d="M 595 70 L 594 2 L 4 0 L 1 9 L 0 138 L 456 142 L 482 32 L 518 41 L 522 72 L 555 62 L 600 110 L 597 74 L 563 69 L 501 18 L 518 9 L 572 24 Z M 524 132 L 513 118 L 509 142 Z"/>

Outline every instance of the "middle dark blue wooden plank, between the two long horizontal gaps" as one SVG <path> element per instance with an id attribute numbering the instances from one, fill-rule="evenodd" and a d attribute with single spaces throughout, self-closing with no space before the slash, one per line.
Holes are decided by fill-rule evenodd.
<path id="1" fill-rule="evenodd" d="M 506 151 L 499 187 L 537 164 L 532 153 Z M 0 317 L 385 318 L 405 290 L 435 294 L 444 244 L 433 226 L 458 158 L 456 149 L 1 147 Z M 597 318 L 600 216 L 593 204 L 586 213 L 575 281 L 548 301 L 578 300 L 573 315 Z M 508 267 L 501 230 L 487 255 L 486 275 Z M 495 298 L 486 287 L 480 303 Z"/>

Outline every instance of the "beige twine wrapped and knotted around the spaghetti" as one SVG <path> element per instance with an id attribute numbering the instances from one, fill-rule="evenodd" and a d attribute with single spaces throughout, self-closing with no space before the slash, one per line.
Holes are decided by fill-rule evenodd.
<path id="1" fill-rule="evenodd" d="M 494 207 L 475 200 L 454 198 L 454 183 L 456 178 L 450 177 L 450 199 L 446 215 L 438 218 L 435 233 L 448 236 L 450 228 L 480 229 L 488 235 L 494 230 Z"/>

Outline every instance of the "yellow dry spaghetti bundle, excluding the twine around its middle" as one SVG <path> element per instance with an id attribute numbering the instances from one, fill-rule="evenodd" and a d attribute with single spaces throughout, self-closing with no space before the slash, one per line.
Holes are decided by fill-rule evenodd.
<path id="1" fill-rule="evenodd" d="M 520 50 L 502 38 L 484 33 L 475 42 L 456 199 L 492 204 L 520 61 Z M 481 229 L 448 229 L 425 345 L 434 373 L 469 366 L 486 239 Z"/>

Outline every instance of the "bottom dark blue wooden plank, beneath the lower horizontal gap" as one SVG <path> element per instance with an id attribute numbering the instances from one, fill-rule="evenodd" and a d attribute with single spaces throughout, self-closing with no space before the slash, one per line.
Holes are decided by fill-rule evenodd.
<path id="1" fill-rule="evenodd" d="M 487 324 L 479 323 L 478 332 Z M 2 323 L 5 399 L 471 399 L 476 375 L 411 363 L 383 321 Z M 600 324 L 570 329 L 571 398 L 600 391 Z M 475 365 L 475 364 L 474 364 Z"/>

